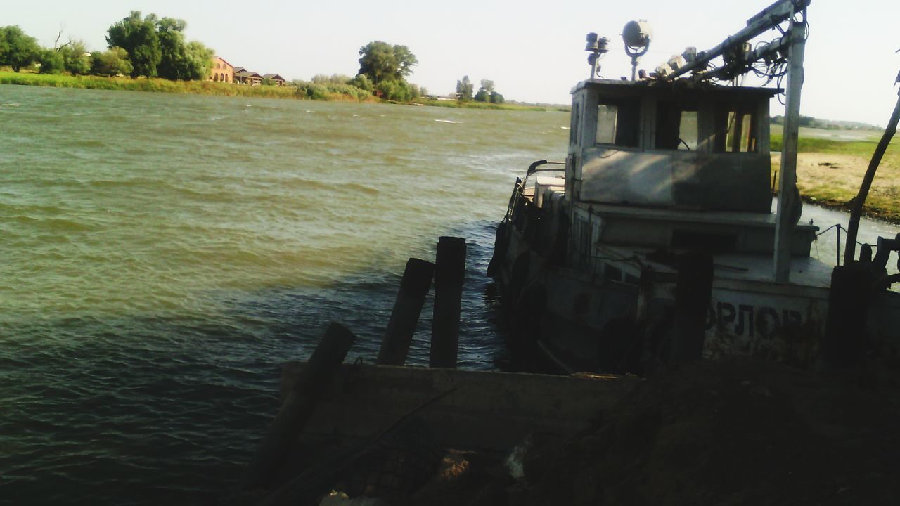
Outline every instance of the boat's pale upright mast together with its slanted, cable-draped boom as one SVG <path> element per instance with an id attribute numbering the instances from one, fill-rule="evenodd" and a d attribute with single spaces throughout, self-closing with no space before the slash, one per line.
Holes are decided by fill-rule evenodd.
<path id="1" fill-rule="evenodd" d="M 797 193 L 797 133 L 800 128 L 800 95 L 803 88 L 803 58 L 806 50 L 806 7 L 810 0 L 779 0 L 756 14 L 740 32 L 728 37 L 712 50 L 688 54 L 687 65 L 669 68 L 657 77 L 663 81 L 691 73 L 695 80 L 735 77 L 746 73 L 750 65 L 760 59 L 773 59 L 779 54 L 788 54 L 788 90 L 785 104 L 785 125 L 781 147 L 781 168 L 779 170 L 779 206 L 775 226 L 775 254 L 773 258 L 774 277 L 779 283 L 790 280 L 791 235 L 799 216 L 799 194 Z M 797 21 L 797 14 L 802 19 Z M 788 21 L 788 30 L 780 24 Z M 752 50 L 748 42 L 769 30 L 778 29 L 784 36 L 779 41 L 762 44 Z M 731 63 L 709 69 L 710 62 L 727 54 L 741 55 Z M 743 66 L 743 67 L 742 67 Z M 664 67 L 663 67 L 664 68 Z"/>

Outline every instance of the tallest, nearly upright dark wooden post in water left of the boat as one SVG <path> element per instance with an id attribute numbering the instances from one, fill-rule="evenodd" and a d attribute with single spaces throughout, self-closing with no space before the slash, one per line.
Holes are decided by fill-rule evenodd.
<path id="1" fill-rule="evenodd" d="M 459 346 L 459 315 L 463 303 L 465 239 L 440 238 L 437 242 L 436 264 L 430 366 L 455 368 Z"/>

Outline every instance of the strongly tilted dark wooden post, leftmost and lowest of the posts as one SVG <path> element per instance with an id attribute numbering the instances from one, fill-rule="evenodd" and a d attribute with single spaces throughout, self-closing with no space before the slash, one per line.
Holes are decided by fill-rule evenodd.
<path id="1" fill-rule="evenodd" d="M 320 401 L 320 394 L 328 388 L 355 340 L 353 332 L 338 323 L 331 322 L 319 346 L 312 352 L 307 366 L 297 378 L 297 383 L 293 385 L 291 393 L 288 393 L 275 420 L 269 426 L 256 455 L 247 465 L 241 480 L 241 487 L 244 490 L 266 486 L 269 482 L 278 465 L 281 465 L 288 448 L 300 437 L 303 426 L 310 420 Z"/>

